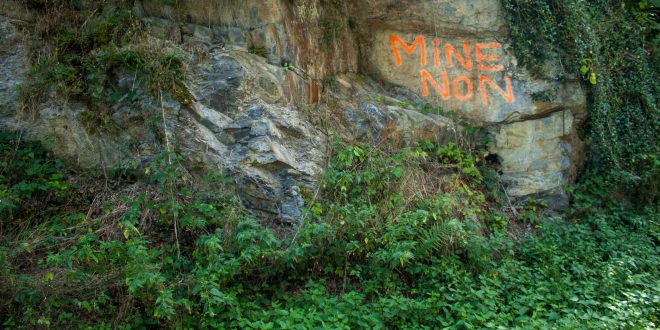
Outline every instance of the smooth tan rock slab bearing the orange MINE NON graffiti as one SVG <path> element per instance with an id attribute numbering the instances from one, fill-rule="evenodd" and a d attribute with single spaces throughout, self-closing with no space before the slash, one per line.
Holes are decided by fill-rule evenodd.
<path id="1" fill-rule="evenodd" d="M 567 205 L 581 143 L 575 126 L 586 100 L 577 81 L 550 66 L 532 77 L 518 66 L 499 1 L 355 1 L 361 70 L 409 88 L 485 126 L 513 197 Z"/>

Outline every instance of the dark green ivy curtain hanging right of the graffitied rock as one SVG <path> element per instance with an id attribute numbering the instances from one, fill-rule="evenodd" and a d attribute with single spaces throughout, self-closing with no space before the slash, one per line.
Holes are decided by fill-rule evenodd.
<path id="1" fill-rule="evenodd" d="M 585 180 L 658 201 L 658 1 L 502 0 L 516 57 L 532 73 L 558 56 L 589 92 Z M 541 99 L 544 97 L 537 96 Z"/>

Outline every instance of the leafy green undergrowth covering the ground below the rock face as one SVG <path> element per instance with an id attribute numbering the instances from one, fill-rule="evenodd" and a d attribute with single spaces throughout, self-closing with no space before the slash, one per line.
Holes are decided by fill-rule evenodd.
<path id="1" fill-rule="evenodd" d="M 576 193 L 569 219 L 511 236 L 527 225 L 490 209 L 490 171 L 456 145 L 335 148 L 322 197 L 280 235 L 175 155 L 102 187 L 3 135 L 3 328 L 658 323 L 657 210 Z"/>

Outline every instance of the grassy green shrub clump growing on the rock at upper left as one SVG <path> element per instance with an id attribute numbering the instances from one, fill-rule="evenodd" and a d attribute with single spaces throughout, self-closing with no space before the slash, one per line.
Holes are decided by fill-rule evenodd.
<path id="1" fill-rule="evenodd" d="M 100 110 L 123 100 L 134 102 L 141 94 L 161 92 L 181 103 L 190 102 L 182 83 L 181 55 L 150 44 L 128 2 L 31 4 L 40 18 L 32 32 L 41 48 L 34 51 L 36 62 L 28 82 L 20 87 L 27 106 L 35 106 L 51 90 Z M 122 75 L 137 81 L 122 87 L 118 84 Z"/>

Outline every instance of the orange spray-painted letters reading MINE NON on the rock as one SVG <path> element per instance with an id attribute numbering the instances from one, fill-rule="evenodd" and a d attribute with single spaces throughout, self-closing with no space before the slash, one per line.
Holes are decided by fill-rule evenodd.
<path id="1" fill-rule="evenodd" d="M 415 40 L 408 44 L 399 38 L 399 36 L 392 34 L 390 36 L 390 43 L 392 44 L 392 53 L 397 66 L 401 66 L 403 62 L 401 58 L 402 53 L 414 55 L 417 52 L 419 54 L 419 63 L 421 65 L 420 78 L 422 94 L 424 96 L 429 96 L 430 86 L 444 100 L 454 97 L 459 101 L 469 101 L 475 97 L 474 90 L 476 86 L 481 96 L 481 103 L 484 105 L 488 105 L 488 89 L 496 91 L 507 103 L 513 103 L 515 101 L 510 76 L 504 75 L 503 88 L 491 78 L 484 75 L 484 72 L 504 71 L 504 66 L 497 64 L 499 58 L 493 54 L 494 50 L 502 46 L 499 43 L 476 43 L 475 45 L 471 45 L 470 42 L 466 41 L 457 49 L 450 43 L 445 43 L 443 47 L 440 40 L 435 38 L 431 43 L 432 61 L 427 61 L 427 43 L 422 35 L 417 35 Z M 472 56 L 473 49 L 475 61 L 473 61 Z M 406 58 L 406 60 L 414 59 L 416 59 L 416 56 Z M 472 79 L 465 75 L 449 77 L 446 68 L 441 71 L 439 76 L 433 76 L 427 71 L 427 65 L 433 66 L 438 70 L 444 65 L 446 68 L 457 67 L 468 72 L 476 68 L 479 70 L 479 78 L 476 81 L 472 81 Z"/>

